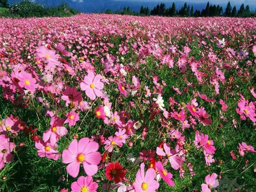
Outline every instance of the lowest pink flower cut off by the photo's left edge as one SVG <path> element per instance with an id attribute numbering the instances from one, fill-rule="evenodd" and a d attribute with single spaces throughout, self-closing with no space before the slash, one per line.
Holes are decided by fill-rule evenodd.
<path id="1" fill-rule="evenodd" d="M 9 138 L 4 134 L 0 134 L 0 170 L 5 166 L 5 163 L 13 160 L 11 152 L 15 148 L 13 142 L 9 142 Z"/>

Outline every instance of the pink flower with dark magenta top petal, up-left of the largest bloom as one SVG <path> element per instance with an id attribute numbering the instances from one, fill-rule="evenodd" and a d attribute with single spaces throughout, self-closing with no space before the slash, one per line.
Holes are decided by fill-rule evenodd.
<path id="1" fill-rule="evenodd" d="M 51 120 L 51 127 L 43 134 L 44 142 L 50 139 L 51 143 L 56 143 L 61 137 L 67 134 L 67 129 L 63 126 L 64 119 L 54 116 Z"/>

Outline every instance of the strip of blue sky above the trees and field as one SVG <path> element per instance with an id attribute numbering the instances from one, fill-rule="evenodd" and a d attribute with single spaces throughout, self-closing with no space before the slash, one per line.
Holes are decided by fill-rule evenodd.
<path id="1" fill-rule="evenodd" d="M 9 3 L 19 2 L 21 0 L 8 0 Z M 122 10 L 123 7 L 130 7 L 132 11 L 139 12 L 141 5 L 153 9 L 157 4 L 165 3 L 166 7 L 170 7 L 175 2 L 176 8 L 180 9 L 184 2 L 193 5 L 194 10 L 202 10 L 208 0 L 33 0 L 34 2 L 44 4 L 45 6 L 57 6 L 61 2 L 67 3 L 70 7 L 84 13 L 103 12 L 107 9 L 112 11 Z M 209 0 L 210 4 L 219 4 L 225 10 L 229 0 Z M 256 9 L 256 0 L 230 0 L 231 6 L 239 9 L 242 3 L 247 4 L 252 10 Z"/>

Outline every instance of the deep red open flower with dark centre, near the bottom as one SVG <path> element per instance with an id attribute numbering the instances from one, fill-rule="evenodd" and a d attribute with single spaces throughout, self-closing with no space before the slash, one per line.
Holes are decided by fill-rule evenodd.
<path id="1" fill-rule="evenodd" d="M 119 162 L 110 163 L 106 169 L 105 174 L 108 180 L 114 179 L 115 183 L 119 183 L 123 180 L 126 170 L 119 165 Z"/>

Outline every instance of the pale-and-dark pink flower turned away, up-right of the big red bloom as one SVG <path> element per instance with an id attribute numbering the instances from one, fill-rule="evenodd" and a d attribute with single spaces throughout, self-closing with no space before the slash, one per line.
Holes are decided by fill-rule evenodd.
<path id="1" fill-rule="evenodd" d="M 182 164 L 182 158 L 177 156 L 177 152 L 175 149 L 170 149 L 170 147 L 165 143 L 163 144 L 164 151 L 160 148 L 156 148 L 156 154 L 160 156 L 166 156 L 172 166 L 173 169 L 177 170 L 180 168 Z"/>

